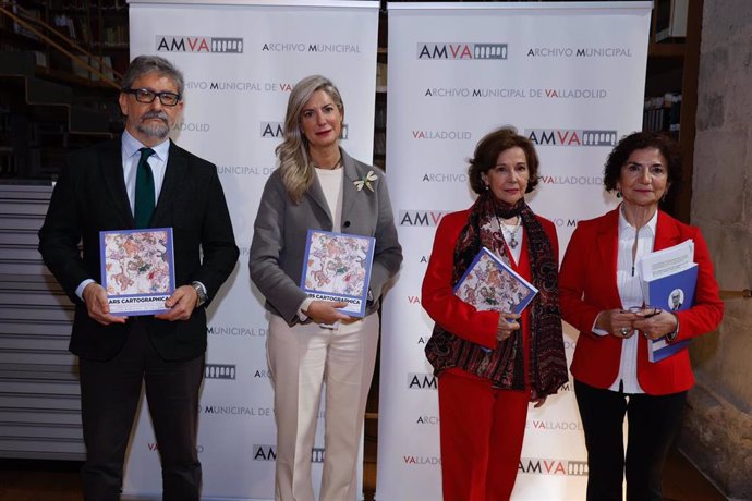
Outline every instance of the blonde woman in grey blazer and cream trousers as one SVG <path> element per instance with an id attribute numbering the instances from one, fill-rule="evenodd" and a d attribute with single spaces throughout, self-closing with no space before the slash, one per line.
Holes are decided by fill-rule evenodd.
<path id="1" fill-rule="evenodd" d="M 262 195 L 251 245 L 251 278 L 269 310 L 267 356 L 277 420 L 276 499 L 313 501 L 311 449 L 326 382 L 326 455 L 322 501 L 352 501 L 363 416 L 376 359 L 377 315 L 402 249 L 384 172 L 340 147 L 344 105 L 327 78 L 295 84 L 277 147 L 279 169 Z M 300 289 L 308 229 L 376 239 L 363 319 L 344 303 L 312 301 Z"/>

